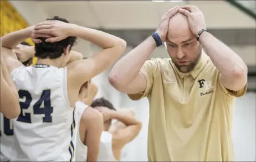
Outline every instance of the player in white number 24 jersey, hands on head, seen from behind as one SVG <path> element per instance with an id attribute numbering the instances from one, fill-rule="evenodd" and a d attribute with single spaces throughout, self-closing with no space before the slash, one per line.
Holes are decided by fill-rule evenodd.
<path id="1" fill-rule="evenodd" d="M 84 82 L 108 68 L 126 43 L 99 30 L 69 24 L 54 17 L 36 27 L 3 36 L 2 47 L 13 49 L 31 36 L 37 63 L 24 67 L 15 55 L 4 52 L 8 71 L 19 92 L 21 113 L 14 120 L 13 161 L 71 161 L 75 143 L 75 102 Z M 40 38 L 39 38 L 40 37 Z M 76 37 L 103 48 L 86 60 L 65 66 Z M 5 41 L 3 41 L 5 40 Z M 5 43 L 3 43 L 5 42 Z M 97 63 L 97 64 L 96 64 Z M 77 127 L 76 127 L 77 128 Z"/>

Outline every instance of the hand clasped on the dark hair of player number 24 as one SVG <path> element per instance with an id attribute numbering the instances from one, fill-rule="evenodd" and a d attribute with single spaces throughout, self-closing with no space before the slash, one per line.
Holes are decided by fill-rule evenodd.
<path id="1" fill-rule="evenodd" d="M 58 20 L 46 20 L 36 25 L 32 34 L 35 43 L 40 43 L 36 38 L 44 37 L 46 42 L 58 42 L 69 37 L 70 24 Z"/>

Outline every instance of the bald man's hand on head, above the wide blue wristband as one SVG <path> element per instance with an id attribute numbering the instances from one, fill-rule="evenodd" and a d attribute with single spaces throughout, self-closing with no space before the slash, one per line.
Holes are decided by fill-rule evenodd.
<path id="1" fill-rule="evenodd" d="M 163 43 L 165 42 L 166 37 L 167 37 L 169 20 L 173 15 L 175 15 L 178 12 L 179 8 L 180 8 L 179 6 L 175 6 L 175 7 L 171 8 L 170 10 L 165 12 L 165 14 L 163 15 L 163 17 L 160 20 L 160 23 L 156 29 L 156 33 L 159 34 L 161 41 Z"/>

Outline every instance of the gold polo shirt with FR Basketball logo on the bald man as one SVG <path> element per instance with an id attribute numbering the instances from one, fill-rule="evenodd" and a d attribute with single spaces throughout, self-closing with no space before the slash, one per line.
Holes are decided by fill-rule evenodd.
<path id="1" fill-rule="evenodd" d="M 246 93 L 228 91 L 220 72 L 202 52 L 190 73 L 177 70 L 170 58 L 151 59 L 140 72 L 147 79 L 149 161 L 234 161 L 232 117 L 235 97 Z"/>

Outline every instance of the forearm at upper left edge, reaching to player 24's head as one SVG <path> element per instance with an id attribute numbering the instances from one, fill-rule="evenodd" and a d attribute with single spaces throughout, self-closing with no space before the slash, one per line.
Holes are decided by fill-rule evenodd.
<path id="1" fill-rule="evenodd" d="M 14 49 L 19 45 L 19 43 L 23 42 L 31 36 L 32 28 L 33 27 L 28 27 L 25 29 L 17 30 L 1 37 L 2 47 L 5 47 L 6 49 Z"/>

